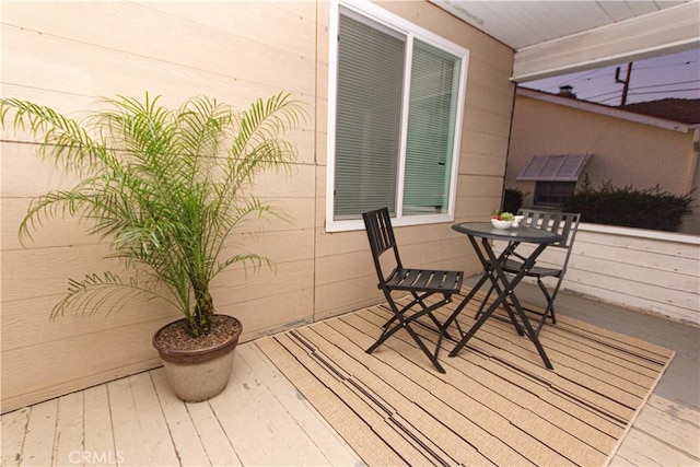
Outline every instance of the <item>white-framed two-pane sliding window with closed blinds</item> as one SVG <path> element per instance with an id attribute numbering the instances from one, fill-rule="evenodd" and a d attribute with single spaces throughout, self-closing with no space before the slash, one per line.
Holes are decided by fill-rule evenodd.
<path id="1" fill-rule="evenodd" d="M 327 227 L 382 207 L 398 224 L 454 219 L 468 51 L 388 13 L 340 8 L 337 28 Z"/>

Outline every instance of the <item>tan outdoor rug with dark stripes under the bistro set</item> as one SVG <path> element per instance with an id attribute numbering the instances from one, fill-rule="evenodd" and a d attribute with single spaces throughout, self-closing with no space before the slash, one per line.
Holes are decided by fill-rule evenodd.
<path id="1" fill-rule="evenodd" d="M 440 374 L 404 330 L 364 353 L 389 317 L 374 306 L 257 341 L 369 466 L 606 465 L 674 353 L 558 316 L 540 334 L 549 371 L 490 319 L 456 358 L 443 343 Z"/>

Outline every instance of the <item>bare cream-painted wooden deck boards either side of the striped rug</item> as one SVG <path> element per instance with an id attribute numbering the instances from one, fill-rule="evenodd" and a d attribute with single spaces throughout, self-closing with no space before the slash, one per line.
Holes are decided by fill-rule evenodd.
<path id="1" fill-rule="evenodd" d="M 695 365 L 698 357 L 685 355 Z M 664 375 L 610 465 L 700 466 L 697 387 L 690 401 L 665 397 L 673 381 L 664 380 L 696 377 L 685 373 Z M 228 388 L 207 402 L 180 402 L 158 369 L 5 413 L 1 423 L 2 466 L 363 465 L 255 342 L 238 346 Z"/>

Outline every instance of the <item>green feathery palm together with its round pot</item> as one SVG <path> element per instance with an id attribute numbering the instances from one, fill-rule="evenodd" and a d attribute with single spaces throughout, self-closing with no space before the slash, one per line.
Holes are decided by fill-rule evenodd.
<path id="1" fill-rule="evenodd" d="M 39 154 L 79 177 L 72 188 L 31 202 L 20 238 L 31 238 L 47 217 L 90 221 L 89 233 L 108 241 L 110 256 L 130 275 L 69 279 L 51 317 L 109 313 L 131 292 L 166 300 L 183 317 L 158 330 L 153 346 L 174 392 L 186 401 L 206 400 L 225 387 L 242 331 L 235 317 L 215 313 L 211 281 L 234 264 L 271 265 L 235 252 L 231 241 L 245 221 L 282 215 L 250 187 L 260 172 L 293 160 L 285 130 L 299 126 L 303 106 L 285 93 L 244 112 L 205 96 L 176 109 L 149 94 L 105 104 L 77 120 L 32 102 L 0 100 L 3 127 L 12 121 L 39 137 Z"/>

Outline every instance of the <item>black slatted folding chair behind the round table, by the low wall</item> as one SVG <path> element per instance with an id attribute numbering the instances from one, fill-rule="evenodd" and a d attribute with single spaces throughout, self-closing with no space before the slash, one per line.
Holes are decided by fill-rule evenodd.
<path id="1" fill-rule="evenodd" d="M 541 290 L 546 300 L 546 307 L 541 313 L 532 308 L 525 308 L 532 313 L 541 315 L 541 318 L 537 324 L 537 328 L 535 329 L 535 332 L 539 334 L 540 329 L 545 325 L 545 322 L 547 320 L 547 317 L 551 319 L 552 324 L 557 324 L 557 315 L 555 314 L 555 300 L 557 299 L 557 294 L 561 289 L 561 283 L 563 282 L 564 275 L 567 273 L 569 257 L 571 256 L 573 242 L 576 237 L 576 231 L 579 230 L 581 214 L 571 212 L 562 213 L 535 211 L 529 209 L 522 209 L 518 211 L 518 214 L 523 215 L 523 220 L 520 222 L 521 225 L 547 230 L 563 236 L 563 240 L 561 242 L 550 245 L 550 247 L 563 248 L 565 250 L 563 260 L 561 261 L 559 267 L 544 267 L 538 266 L 536 262 L 535 266 L 525 273 L 526 277 L 537 279 L 537 285 L 539 285 L 539 289 Z M 502 265 L 503 270 L 510 273 L 517 273 L 520 271 L 523 259 L 523 256 L 518 255 L 516 249 L 513 249 L 513 252 L 510 255 L 506 255 L 506 257 L 504 258 Z M 542 281 L 544 278 L 555 278 L 557 280 L 551 292 Z M 486 302 L 488 301 L 492 292 L 493 287 L 491 287 L 491 289 L 487 292 L 486 299 L 479 306 L 475 318 L 482 313 L 483 306 L 486 305 Z"/>

